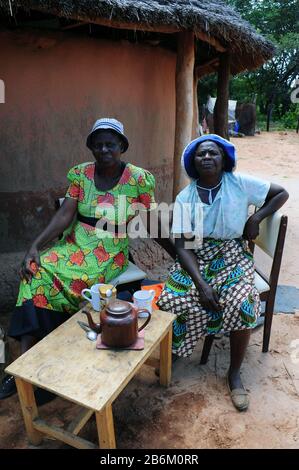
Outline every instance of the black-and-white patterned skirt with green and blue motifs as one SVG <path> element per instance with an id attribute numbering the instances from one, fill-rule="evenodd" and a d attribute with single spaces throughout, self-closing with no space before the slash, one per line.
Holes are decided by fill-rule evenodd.
<path id="1" fill-rule="evenodd" d="M 201 336 L 254 328 L 260 314 L 247 241 L 205 238 L 194 253 L 201 276 L 216 290 L 223 308 L 215 312 L 202 307 L 191 277 L 175 262 L 157 305 L 176 316 L 172 351 L 182 357 L 192 354 Z"/>

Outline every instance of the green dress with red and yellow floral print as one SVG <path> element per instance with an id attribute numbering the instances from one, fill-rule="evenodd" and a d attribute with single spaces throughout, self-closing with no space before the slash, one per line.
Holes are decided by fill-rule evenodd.
<path id="1" fill-rule="evenodd" d="M 109 227 L 126 227 L 140 204 L 150 210 L 155 204 L 155 179 L 151 173 L 127 163 L 117 185 L 100 191 L 94 183 L 95 163 L 73 167 L 67 177 L 70 186 L 66 197 L 78 200 L 78 212 L 84 217 L 100 219 Z M 97 282 L 109 282 L 128 266 L 128 237 L 121 231 L 111 233 L 77 219 L 61 240 L 40 254 L 41 267 L 31 282 L 20 284 L 14 316 L 38 315 L 47 310 L 72 314 L 79 309 L 81 291 Z M 112 231 L 113 232 L 113 231 Z M 11 322 L 10 336 L 30 332 L 28 319 Z M 30 321 L 29 321 L 30 323 Z M 33 321 L 34 329 L 38 320 Z M 32 325 L 31 325 L 32 326 Z M 29 331 L 28 331 L 29 330 Z"/>

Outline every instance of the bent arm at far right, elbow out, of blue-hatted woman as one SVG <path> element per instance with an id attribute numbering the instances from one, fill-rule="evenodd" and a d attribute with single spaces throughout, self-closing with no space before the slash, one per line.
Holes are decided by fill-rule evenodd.
<path id="1" fill-rule="evenodd" d="M 289 193 L 282 186 L 271 183 L 265 203 L 247 220 L 243 237 L 247 240 L 255 240 L 259 235 L 259 224 L 261 221 L 280 209 L 288 200 L 288 197 Z"/>

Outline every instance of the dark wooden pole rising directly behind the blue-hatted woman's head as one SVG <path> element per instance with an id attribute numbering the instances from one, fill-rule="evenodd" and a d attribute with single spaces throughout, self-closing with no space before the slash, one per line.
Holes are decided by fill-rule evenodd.
<path id="1" fill-rule="evenodd" d="M 229 52 L 220 54 L 217 82 L 217 100 L 214 108 L 214 132 L 228 139 L 228 98 L 230 78 Z"/>

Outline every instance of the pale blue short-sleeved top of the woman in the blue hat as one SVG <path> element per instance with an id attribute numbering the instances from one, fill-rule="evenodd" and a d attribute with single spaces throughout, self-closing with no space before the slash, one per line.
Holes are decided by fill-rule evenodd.
<path id="1" fill-rule="evenodd" d="M 221 187 L 212 204 L 204 204 L 193 180 L 176 197 L 173 234 L 197 238 L 231 240 L 243 234 L 250 205 L 261 207 L 270 183 L 241 173 L 224 172 Z"/>

